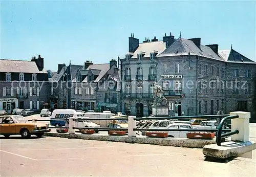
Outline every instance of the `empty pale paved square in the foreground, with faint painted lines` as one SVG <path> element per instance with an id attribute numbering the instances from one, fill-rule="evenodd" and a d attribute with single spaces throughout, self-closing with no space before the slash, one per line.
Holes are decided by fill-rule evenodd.
<path id="1" fill-rule="evenodd" d="M 256 176 L 256 158 L 204 161 L 202 149 L 0 137 L 0 176 Z"/>

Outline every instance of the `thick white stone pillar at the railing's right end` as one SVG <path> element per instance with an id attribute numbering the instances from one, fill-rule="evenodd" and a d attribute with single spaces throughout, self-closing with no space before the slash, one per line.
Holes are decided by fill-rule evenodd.
<path id="1" fill-rule="evenodd" d="M 248 112 L 231 112 L 230 116 L 238 115 L 239 118 L 231 119 L 231 131 L 239 130 L 239 134 L 231 136 L 231 141 L 249 141 L 251 113 Z"/>

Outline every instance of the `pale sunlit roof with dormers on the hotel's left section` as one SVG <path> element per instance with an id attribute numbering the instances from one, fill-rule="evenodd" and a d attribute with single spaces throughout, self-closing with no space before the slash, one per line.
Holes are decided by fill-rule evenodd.
<path id="1" fill-rule="evenodd" d="M 139 47 L 134 53 L 127 53 L 132 54 L 133 56 L 131 58 L 137 58 L 137 54 L 141 52 L 145 52 L 145 57 L 150 57 L 150 53 L 154 52 L 154 50 L 157 50 L 158 53 L 163 52 L 166 49 L 165 42 L 163 41 L 154 41 L 154 42 L 145 42 L 145 43 L 139 43 Z"/>

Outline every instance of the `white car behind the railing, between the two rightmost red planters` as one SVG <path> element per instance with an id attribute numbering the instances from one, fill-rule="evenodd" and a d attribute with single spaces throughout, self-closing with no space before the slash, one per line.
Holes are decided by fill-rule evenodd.
<path id="1" fill-rule="evenodd" d="M 173 123 L 169 124 L 166 129 L 196 129 L 193 128 L 190 124 L 186 123 Z M 196 130 L 195 130 L 196 131 Z M 168 131 L 168 137 L 173 138 L 187 138 L 187 133 L 191 131 Z"/>

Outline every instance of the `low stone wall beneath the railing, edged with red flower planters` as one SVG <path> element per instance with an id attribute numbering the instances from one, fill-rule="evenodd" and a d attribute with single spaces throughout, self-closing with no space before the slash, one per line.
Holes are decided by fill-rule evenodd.
<path id="1" fill-rule="evenodd" d="M 177 146 L 188 148 L 203 148 L 208 144 L 215 144 L 216 140 L 193 140 L 187 138 L 148 138 L 148 137 L 133 137 L 128 136 L 110 136 L 110 135 L 84 135 L 84 134 L 60 134 L 56 132 L 46 132 L 46 136 L 61 137 L 61 138 L 77 138 L 84 140 L 97 140 L 97 141 L 115 141 L 124 143 L 139 143 L 139 144 L 154 144 L 162 146 Z"/>

